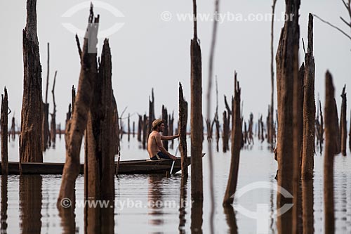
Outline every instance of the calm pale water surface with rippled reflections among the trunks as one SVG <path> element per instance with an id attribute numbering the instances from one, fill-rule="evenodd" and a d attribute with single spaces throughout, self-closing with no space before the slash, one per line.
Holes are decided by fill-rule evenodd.
<path id="1" fill-rule="evenodd" d="M 121 145 L 121 160 L 146 158 L 136 138 L 128 143 L 126 136 Z M 178 143 L 175 141 L 175 145 Z M 214 145 L 213 145 L 214 147 Z M 8 145 L 9 160 L 18 161 L 18 141 Z M 221 148 L 221 145 L 220 145 Z M 204 152 L 207 142 L 204 141 Z M 174 152 L 175 150 L 170 150 Z M 256 233 L 258 223 L 242 212 L 238 206 L 256 212 L 258 205 L 267 209 L 267 232 L 277 233 L 276 187 L 274 176 L 277 162 L 267 150 L 265 143 L 256 143 L 252 148 L 241 150 L 239 181 L 237 189 L 258 181 L 269 183 L 268 188 L 256 188 L 234 200 L 234 209 L 223 209 L 222 200 L 227 186 L 230 167 L 230 152 L 215 152 L 215 197 L 216 233 Z M 81 162 L 84 156 L 81 155 Z M 44 153 L 45 162 L 65 162 L 65 142 L 58 140 L 55 149 Z M 204 163 L 204 202 L 191 204 L 190 177 L 182 181 L 180 174 L 166 176 L 120 175 L 115 180 L 116 200 L 106 214 L 114 216 L 115 233 L 204 233 L 209 232 L 209 187 L 208 157 Z M 324 232 L 323 204 L 323 157 L 314 157 L 314 181 L 302 183 L 307 191 L 304 214 L 310 222 L 301 223 L 308 233 Z M 335 210 L 336 233 L 351 233 L 351 160 L 335 157 Z M 1 177 L 1 233 L 62 233 L 56 201 L 60 189 L 61 176 L 7 176 Z M 69 224 L 76 233 L 84 233 L 84 177 L 76 183 L 75 217 Z M 110 207 L 110 204 L 108 204 Z M 105 219 L 105 217 L 104 217 Z M 306 219 L 305 219 L 306 220 Z M 307 219 L 308 220 L 308 219 Z"/>

